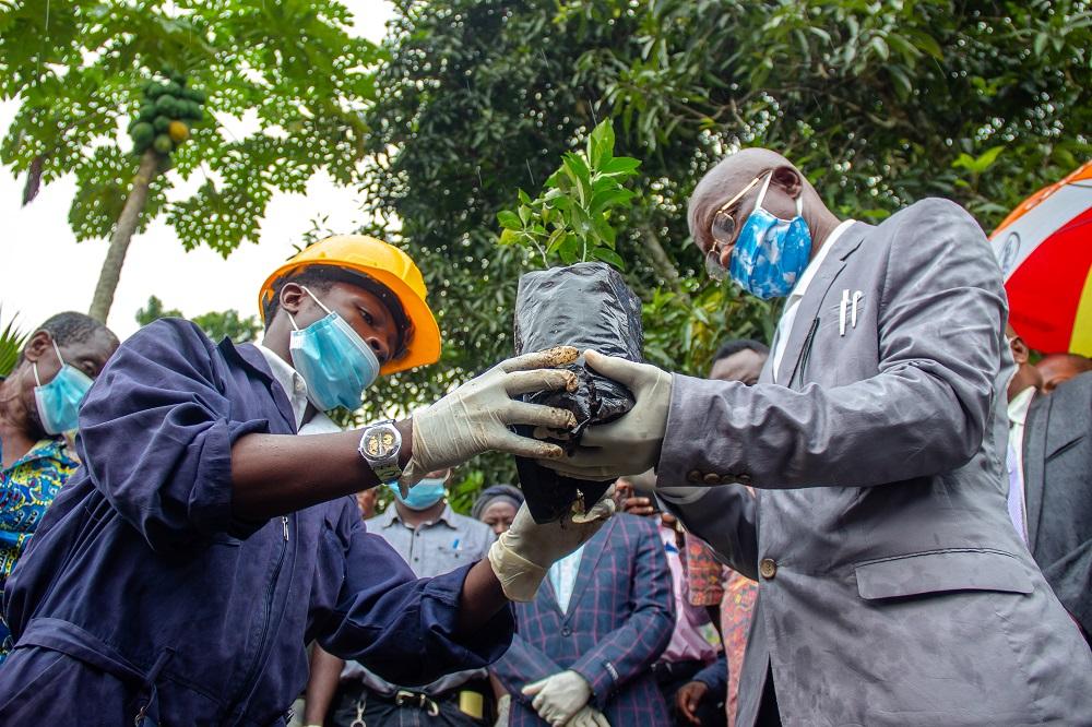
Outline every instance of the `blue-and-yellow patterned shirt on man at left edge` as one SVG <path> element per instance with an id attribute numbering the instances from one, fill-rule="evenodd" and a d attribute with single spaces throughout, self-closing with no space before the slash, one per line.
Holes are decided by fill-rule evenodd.
<path id="1" fill-rule="evenodd" d="M 80 466 L 64 439 L 44 439 L 0 470 L 0 593 L 64 480 Z M 11 651 L 0 617 L 0 663 Z"/>

